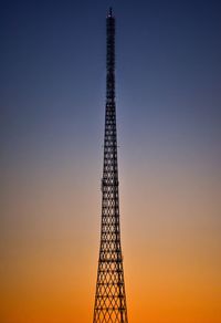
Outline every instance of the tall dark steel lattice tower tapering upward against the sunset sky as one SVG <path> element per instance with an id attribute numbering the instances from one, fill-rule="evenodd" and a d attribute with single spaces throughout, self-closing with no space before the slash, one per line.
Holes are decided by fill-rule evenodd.
<path id="1" fill-rule="evenodd" d="M 93 323 L 128 323 L 119 228 L 115 105 L 115 18 L 106 18 L 106 113 L 102 178 L 102 228 Z"/>

